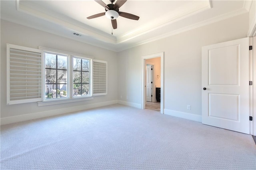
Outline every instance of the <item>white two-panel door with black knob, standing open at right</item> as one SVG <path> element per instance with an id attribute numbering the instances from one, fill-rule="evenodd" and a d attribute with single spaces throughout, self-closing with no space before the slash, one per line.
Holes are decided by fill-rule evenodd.
<path id="1" fill-rule="evenodd" d="M 202 123 L 249 134 L 249 38 L 202 47 Z"/>

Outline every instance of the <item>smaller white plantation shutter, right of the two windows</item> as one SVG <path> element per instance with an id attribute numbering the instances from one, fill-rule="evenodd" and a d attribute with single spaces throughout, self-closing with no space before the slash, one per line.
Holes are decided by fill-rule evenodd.
<path id="1" fill-rule="evenodd" d="M 92 60 L 92 95 L 107 94 L 107 62 Z"/>

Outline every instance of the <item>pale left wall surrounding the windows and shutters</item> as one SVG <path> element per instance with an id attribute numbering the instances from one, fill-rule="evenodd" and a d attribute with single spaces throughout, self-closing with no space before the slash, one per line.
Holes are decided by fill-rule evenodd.
<path id="1" fill-rule="evenodd" d="M 68 38 L 42 32 L 40 30 L 14 24 L 1 20 L 1 124 L 11 119 L 26 120 L 29 118 L 50 116 L 79 109 L 89 108 L 86 105 L 97 106 L 95 103 L 111 104 L 117 101 L 117 54 L 114 51 L 86 43 L 76 42 Z M 94 59 L 108 61 L 108 95 L 96 96 L 94 100 L 48 105 L 38 107 L 38 103 L 25 103 L 6 105 L 6 43 L 37 48 L 38 46 L 70 51 L 83 55 L 89 55 Z M 31 115 L 32 114 L 32 115 Z M 7 119 L 8 118 L 8 119 Z"/>

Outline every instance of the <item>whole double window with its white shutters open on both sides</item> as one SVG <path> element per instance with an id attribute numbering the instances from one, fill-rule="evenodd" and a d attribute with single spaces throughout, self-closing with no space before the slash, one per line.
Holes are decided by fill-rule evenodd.
<path id="1" fill-rule="evenodd" d="M 7 44 L 8 105 L 35 101 L 39 101 L 38 106 L 54 105 L 106 94 L 106 61 Z"/>

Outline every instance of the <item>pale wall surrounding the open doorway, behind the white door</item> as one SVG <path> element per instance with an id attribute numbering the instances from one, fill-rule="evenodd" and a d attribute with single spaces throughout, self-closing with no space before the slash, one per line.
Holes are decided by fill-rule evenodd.
<path id="1" fill-rule="evenodd" d="M 164 51 L 164 113 L 200 121 L 201 47 L 245 38 L 248 13 L 118 53 L 118 96 L 141 105 L 141 57 Z M 187 110 L 191 105 L 191 110 Z"/>

